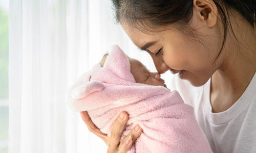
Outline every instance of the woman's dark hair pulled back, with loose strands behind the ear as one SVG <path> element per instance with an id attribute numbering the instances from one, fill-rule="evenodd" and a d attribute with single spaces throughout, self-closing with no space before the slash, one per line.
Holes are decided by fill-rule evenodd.
<path id="1" fill-rule="evenodd" d="M 256 0 L 212 1 L 218 8 L 224 29 L 223 43 L 218 58 L 226 41 L 227 25 L 232 30 L 229 21 L 230 8 L 240 13 L 255 28 Z M 182 25 L 178 27 L 182 31 L 188 29 L 191 32 L 189 24 L 193 16 L 193 0 L 112 0 L 112 4 L 117 22 L 124 21 L 141 31 L 154 31 L 156 28 L 174 24 Z"/>

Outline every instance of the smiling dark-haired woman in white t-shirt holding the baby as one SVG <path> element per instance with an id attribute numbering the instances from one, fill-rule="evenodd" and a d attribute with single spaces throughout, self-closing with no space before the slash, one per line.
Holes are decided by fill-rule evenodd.
<path id="1" fill-rule="evenodd" d="M 254 152 L 255 0 L 112 1 L 117 21 L 151 55 L 157 71 L 179 73 L 171 87 L 193 105 L 212 151 Z M 108 152 L 127 152 L 142 132 L 138 127 L 120 140 L 128 119 L 125 112 L 110 138 L 87 112 L 81 117 L 109 146 Z"/>

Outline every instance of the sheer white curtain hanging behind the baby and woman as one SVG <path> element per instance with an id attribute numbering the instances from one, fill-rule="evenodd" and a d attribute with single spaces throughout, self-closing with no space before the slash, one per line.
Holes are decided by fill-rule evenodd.
<path id="1" fill-rule="evenodd" d="M 110 0 L 10 0 L 9 152 L 106 152 L 67 107 L 73 82 L 112 44 L 154 70 L 114 24 Z"/>

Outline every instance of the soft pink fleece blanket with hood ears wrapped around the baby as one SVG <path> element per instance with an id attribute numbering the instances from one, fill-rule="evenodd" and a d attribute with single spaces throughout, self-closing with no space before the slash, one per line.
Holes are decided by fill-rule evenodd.
<path id="1" fill-rule="evenodd" d="M 92 121 L 110 136 L 121 111 L 129 114 L 121 139 L 139 124 L 143 129 L 129 152 L 212 152 L 193 108 L 177 91 L 136 83 L 130 62 L 116 45 L 103 67 L 95 65 L 69 89 L 69 106 L 88 111 Z"/>

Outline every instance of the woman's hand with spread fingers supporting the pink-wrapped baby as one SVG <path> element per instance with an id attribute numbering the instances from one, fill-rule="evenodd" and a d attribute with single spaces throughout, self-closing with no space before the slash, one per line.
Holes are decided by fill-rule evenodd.
<path id="1" fill-rule="evenodd" d="M 126 137 L 120 140 L 122 132 L 125 129 L 125 124 L 128 120 L 128 114 L 126 112 L 121 112 L 112 126 L 111 136 L 109 138 L 92 122 L 87 111 L 80 112 L 80 114 L 83 122 L 86 123 L 88 130 L 100 137 L 106 145 L 108 145 L 108 153 L 126 153 L 142 132 L 141 127 L 136 125 Z"/>

